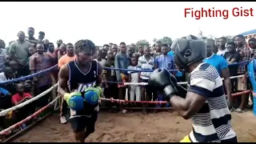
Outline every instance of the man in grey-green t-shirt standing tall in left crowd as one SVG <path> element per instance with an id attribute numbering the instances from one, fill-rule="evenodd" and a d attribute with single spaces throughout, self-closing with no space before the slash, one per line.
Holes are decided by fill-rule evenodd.
<path id="1" fill-rule="evenodd" d="M 25 33 L 23 31 L 18 32 L 18 40 L 10 45 L 11 58 L 13 58 L 19 66 L 18 75 L 26 76 L 30 74 L 29 70 L 26 69 L 30 46 L 31 43 L 25 41 Z"/>

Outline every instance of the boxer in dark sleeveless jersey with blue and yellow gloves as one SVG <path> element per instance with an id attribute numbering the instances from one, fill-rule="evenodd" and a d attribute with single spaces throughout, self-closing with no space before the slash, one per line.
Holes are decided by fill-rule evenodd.
<path id="1" fill-rule="evenodd" d="M 58 92 L 64 96 L 70 106 L 69 121 L 74 131 L 75 141 L 84 142 L 90 134 L 94 133 L 99 110 L 98 101 L 92 102 L 95 100 L 93 97 L 88 100 L 87 96 L 90 94 L 86 91 L 100 90 L 98 86 L 102 83 L 102 66 L 92 58 L 96 54 L 94 42 L 80 40 L 74 44 L 74 50 L 77 58 L 62 66 L 59 71 Z M 82 110 L 78 110 L 78 106 L 82 107 Z"/>

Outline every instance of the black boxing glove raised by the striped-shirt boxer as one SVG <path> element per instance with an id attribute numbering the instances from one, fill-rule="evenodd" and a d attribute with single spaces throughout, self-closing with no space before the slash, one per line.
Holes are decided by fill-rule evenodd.
<path id="1" fill-rule="evenodd" d="M 170 98 L 173 97 L 174 94 L 178 93 L 178 90 L 176 88 L 176 86 L 178 85 L 177 80 L 166 69 L 154 70 L 153 73 L 150 75 L 148 84 L 150 86 L 154 86 L 156 90 L 164 94 L 166 96 L 167 102 L 170 101 Z"/>

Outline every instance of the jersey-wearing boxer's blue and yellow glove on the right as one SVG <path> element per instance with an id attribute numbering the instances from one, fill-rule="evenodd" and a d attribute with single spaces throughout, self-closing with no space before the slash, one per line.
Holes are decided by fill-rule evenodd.
<path id="1" fill-rule="evenodd" d="M 90 105 L 98 104 L 98 101 L 100 100 L 101 96 L 102 96 L 102 88 L 99 86 L 86 88 L 85 94 L 84 94 L 85 101 Z"/>

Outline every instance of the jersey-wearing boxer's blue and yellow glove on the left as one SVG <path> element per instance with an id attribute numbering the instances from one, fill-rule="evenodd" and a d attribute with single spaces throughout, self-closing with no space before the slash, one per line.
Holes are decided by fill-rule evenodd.
<path id="1" fill-rule="evenodd" d="M 82 98 L 82 94 L 79 92 L 66 93 L 64 94 L 64 100 L 67 105 L 70 106 L 72 110 L 82 110 L 84 99 Z"/>

